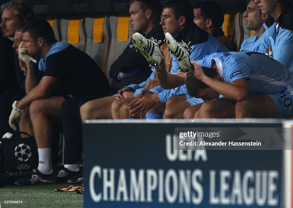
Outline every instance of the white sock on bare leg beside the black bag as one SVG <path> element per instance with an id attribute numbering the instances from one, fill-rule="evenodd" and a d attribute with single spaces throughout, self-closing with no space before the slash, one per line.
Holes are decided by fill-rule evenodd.
<path id="1" fill-rule="evenodd" d="M 52 148 L 38 148 L 39 154 L 39 165 L 38 170 L 42 174 L 51 174 L 53 173 L 52 168 Z"/>

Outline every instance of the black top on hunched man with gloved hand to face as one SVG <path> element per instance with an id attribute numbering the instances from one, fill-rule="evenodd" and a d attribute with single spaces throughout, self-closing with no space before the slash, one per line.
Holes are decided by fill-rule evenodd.
<path id="1" fill-rule="evenodd" d="M 107 94 L 110 89 L 97 63 L 72 45 L 47 57 L 44 76 L 59 78 L 54 91 L 65 97 Z"/>

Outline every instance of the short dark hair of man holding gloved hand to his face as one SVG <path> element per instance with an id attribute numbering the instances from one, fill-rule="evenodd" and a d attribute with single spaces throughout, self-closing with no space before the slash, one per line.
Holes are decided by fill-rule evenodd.
<path id="1" fill-rule="evenodd" d="M 36 41 L 38 38 L 44 38 L 47 44 L 57 42 L 54 36 L 54 31 L 50 24 L 44 19 L 35 19 L 28 21 L 23 28 L 23 33 L 28 32 Z"/>

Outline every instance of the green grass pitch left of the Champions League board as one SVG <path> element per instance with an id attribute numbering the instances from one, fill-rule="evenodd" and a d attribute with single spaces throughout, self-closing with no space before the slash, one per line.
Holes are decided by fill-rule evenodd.
<path id="1" fill-rule="evenodd" d="M 56 188 L 67 188 L 81 184 L 39 184 L 30 186 L 5 186 L 0 188 L 1 208 L 5 207 L 83 207 L 84 196 L 76 192 L 55 192 Z M 19 204 L 5 204 L 4 201 L 21 201 Z"/>

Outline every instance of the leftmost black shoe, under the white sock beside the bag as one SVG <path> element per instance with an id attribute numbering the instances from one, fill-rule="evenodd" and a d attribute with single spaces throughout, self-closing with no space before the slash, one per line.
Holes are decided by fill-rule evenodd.
<path id="1" fill-rule="evenodd" d="M 38 169 L 33 169 L 29 175 L 17 178 L 14 184 L 16 185 L 40 184 L 44 181 L 45 178 L 51 177 L 53 174 L 54 173 L 42 174 Z"/>

